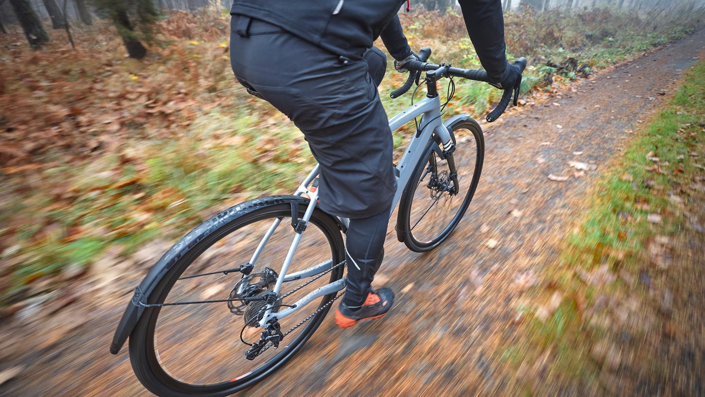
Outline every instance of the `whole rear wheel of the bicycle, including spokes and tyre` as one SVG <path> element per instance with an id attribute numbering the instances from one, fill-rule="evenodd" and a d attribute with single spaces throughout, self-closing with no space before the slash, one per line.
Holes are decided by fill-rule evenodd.
<path id="1" fill-rule="evenodd" d="M 266 293 L 268 288 L 271 291 L 274 284 L 271 278 L 267 282 L 265 269 L 281 270 L 295 236 L 291 227 L 292 207 L 281 201 L 264 206 L 261 203 L 260 200 L 257 206 L 250 208 L 247 203 L 240 204 L 242 215 L 204 232 L 206 236 L 202 238 L 192 239 L 198 243 L 173 264 L 150 295 L 149 303 L 222 300 L 232 298 L 233 295 L 229 295 L 232 291 L 248 296 Z M 306 208 L 305 204 L 298 206 L 299 218 Z M 276 219 L 281 219 L 281 224 L 264 246 L 250 274 L 259 276 L 243 286 L 242 274 L 223 274 L 222 269 L 250 262 L 252 252 Z M 326 260 L 331 261 L 331 265 L 341 264 L 344 259 L 343 238 L 336 221 L 315 209 L 287 273 Z M 314 281 L 315 275 L 284 282 L 280 296 L 312 281 L 284 296 L 281 305 L 292 305 L 307 293 L 342 276 L 343 265 L 339 265 Z M 245 351 L 250 346 L 243 344 L 240 336 L 249 343 L 259 341 L 263 329 L 245 323 L 256 324 L 257 321 L 247 318 L 257 317 L 261 307 L 252 307 L 262 305 L 262 301 L 247 305 L 235 301 L 148 307 L 130 335 L 130 361 L 142 384 L 157 396 L 228 396 L 262 380 L 289 360 L 316 331 L 338 296 L 339 293 L 331 293 L 316 298 L 279 319 L 283 333 L 292 331 L 278 348 L 266 348 L 254 360 L 246 360 Z"/>

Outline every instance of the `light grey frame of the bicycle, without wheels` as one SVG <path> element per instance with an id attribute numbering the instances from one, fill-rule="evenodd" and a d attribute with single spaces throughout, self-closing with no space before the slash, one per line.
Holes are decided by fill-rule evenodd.
<path id="1" fill-rule="evenodd" d="M 413 104 L 412 106 L 402 111 L 400 114 L 397 114 L 393 118 L 390 118 L 389 128 L 390 130 L 397 130 L 401 126 L 405 125 L 406 123 L 409 123 L 414 118 L 417 118 L 421 115 L 423 115 L 423 118 L 421 119 L 421 125 L 419 126 L 419 133 L 415 134 L 411 138 L 411 142 L 409 142 L 409 145 L 407 145 L 406 149 L 404 150 L 404 154 L 402 155 L 400 161 L 398 162 L 398 165 L 396 166 L 395 173 L 397 178 L 397 190 L 396 193 L 394 193 L 394 199 L 391 207 L 392 211 L 398 204 L 399 199 L 404 191 L 404 188 L 406 187 L 407 183 L 409 183 L 412 173 L 415 170 L 417 164 L 419 164 L 419 161 L 421 160 L 421 157 L 424 154 L 424 151 L 427 145 L 429 144 L 429 141 L 432 139 L 433 135 L 438 135 L 438 137 L 441 138 L 441 142 L 443 142 L 444 148 L 449 147 L 451 143 L 450 133 L 448 132 L 446 126 L 443 125 L 443 120 L 441 119 L 441 99 L 437 95 L 436 97 L 432 98 L 424 97 L 424 99 L 421 99 L 417 104 Z M 312 183 L 312 181 L 314 181 L 314 178 L 318 176 L 318 173 L 319 165 L 316 164 L 316 166 L 314 166 L 314 169 L 309 172 L 308 176 L 304 179 L 304 181 L 302 181 L 302 183 L 299 185 L 298 189 L 296 189 L 294 193 L 294 195 L 299 196 L 307 195 L 311 200 L 304 216 L 302 217 L 302 220 L 306 223 L 308 223 L 309 219 L 311 219 L 311 214 L 313 213 L 313 210 L 316 207 L 318 200 L 318 190 L 311 191 L 308 189 L 308 185 Z M 340 219 L 343 224 L 347 227 L 349 220 L 346 218 Z M 260 240 L 259 245 L 257 245 L 257 249 L 252 254 L 250 264 L 254 265 L 255 262 L 257 262 L 257 257 L 259 257 L 259 254 L 264 249 L 264 245 L 266 245 L 267 241 L 274 233 L 276 228 L 279 226 L 279 224 L 281 224 L 281 219 L 276 219 L 269 227 L 269 230 L 266 231 L 264 237 L 262 237 L 262 240 Z M 287 274 L 291 259 L 294 257 L 296 248 L 298 247 L 299 242 L 301 240 L 302 233 L 295 233 L 294 240 L 292 241 L 289 247 L 286 259 L 284 259 L 284 263 L 281 266 L 281 271 L 279 272 L 276 284 L 274 285 L 274 289 L 272 290 L 275 293 L 279 293 L 279 291 L 281 290 L 281 285 L 283 283 L 320 274 L 321 272 L 330 269 L 331 266 L 334 265 L 333 259 L 328 259 L 313 267 L 309 267 L 308 269 L 297 271 L 292 274 Z M 321 286 L 320 288 L 317 288 L 311 293 L 305 295 L 303 298 L 293 303 L 293 307 L 286 307 L 283 310 L 272 313 L 271 310 L 274 305 L 268 305 L 266 312 L 264 312 L 264 317 L 262 317 L 262 319 L 259 321 L 259 326 L 266 326 L 267 322 L 269 322 L 274 317 L 276 317 L 277 319 L 282 319 L 283 317 L 286 317 L 289 314 L 292 314 L 293 312 L 301 309 L 302 307 L 307 305 L 307 303 L 310 303 L 312 300 L 320 298 L 324 295 L 328 295 L 330 293 L 336 293 L 338 291 L 341 291 L 343 288 L 345 288 L 345 280 L 340 279 L 338 281 L 333 281 L 333 283 L 326 284 L 325 286 Z"/>

